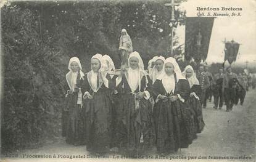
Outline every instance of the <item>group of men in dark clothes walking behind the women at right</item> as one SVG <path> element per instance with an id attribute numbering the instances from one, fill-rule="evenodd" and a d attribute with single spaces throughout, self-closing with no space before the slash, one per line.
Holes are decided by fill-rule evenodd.
<path id="1" fill-rule="evenodd" d="M 206 108 L 207 101 L 211 102 L 213 95 L 213 108 L 221 109 L 223 105 L 226 105 L 226 111 L 231 111 L 233 105 L 237 105 L 240 100 L 240 104 L 243 105 L 246 97 L 246 92 L 249 90 L 248 76 L 246 73 L 232 72 L 231 66 L 218 70 L 218 73 L 212 75 L 208 71 L 207 65 L 200 65 L 199 73 L 197 74 L 200 85 L 202 86 L 202 104 L 203 108 Z"/>

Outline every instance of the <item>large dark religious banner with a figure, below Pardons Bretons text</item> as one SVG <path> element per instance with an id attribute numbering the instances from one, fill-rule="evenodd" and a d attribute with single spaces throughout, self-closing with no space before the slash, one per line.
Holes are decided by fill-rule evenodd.
<path id="1" fill-rule="evenodd" d="M 214 17 L 187 17 L 185 59 L 200 63 L 207 59 Z"/>

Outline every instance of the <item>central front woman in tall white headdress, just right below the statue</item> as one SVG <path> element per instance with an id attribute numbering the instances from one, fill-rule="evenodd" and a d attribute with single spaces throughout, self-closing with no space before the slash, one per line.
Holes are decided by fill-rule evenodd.
<path id="1" fill-rule="evenodd" d="M 148 79 L 138 52 L 129 57 L 130 67 L 118 75 L 117 140 L 118 147 L 134 155 L 154 144 L 152 108 L 147 91 Z"/>

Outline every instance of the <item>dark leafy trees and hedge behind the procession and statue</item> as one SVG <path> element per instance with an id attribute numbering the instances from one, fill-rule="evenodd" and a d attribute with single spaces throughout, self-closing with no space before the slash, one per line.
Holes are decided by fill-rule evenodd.
<path id="1" fill-rule="evenodd" d="M 24 1 L 2 7 L 1 151 L 38 146 L 60 136 L 70 57 L 78 56 L 85 72 L 96 53 L 110 55 L 118 67 L 122 28 L 145 64 L 153 55 L 167 56 L 171 10 L 165 2 Z M 175 18 L 184 25 L 184 12 L 176 10 Z"/>

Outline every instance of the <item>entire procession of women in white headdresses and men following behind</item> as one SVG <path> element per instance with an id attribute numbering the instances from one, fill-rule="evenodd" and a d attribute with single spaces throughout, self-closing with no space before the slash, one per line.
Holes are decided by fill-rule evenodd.
<path id="1" fill-rule="evenodd" d="M 94 153 L 173 153 L 188 148 L 204 129 L 202 108 L 212 94 L 214 108 L 225 101 L 230 111 L 239 99 L 244 102 L 244 79 L 231 67 L 212 75 L 205 65 L 198 71 L 188 65 L 182 72 L 173 57 L 162 56 L 148 65 L 144 70 L 139 53 L 131 52 L 128 67 L 117 71 L 109 55 L 96 54 L 91 71 L 83 73 L 72 57 L 62 115 L 66 142 Z"/>

